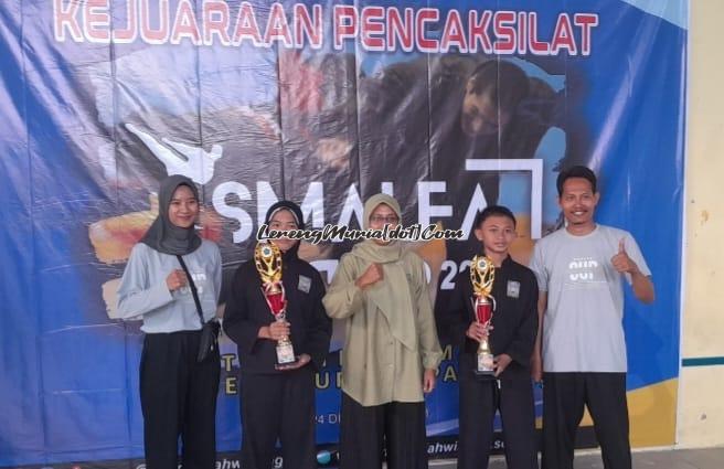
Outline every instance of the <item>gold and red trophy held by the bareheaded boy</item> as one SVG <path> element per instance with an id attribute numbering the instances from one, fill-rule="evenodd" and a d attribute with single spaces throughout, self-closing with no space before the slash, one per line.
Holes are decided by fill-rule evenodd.
<path id="1" fill-rule="evenodd" d="M 490 295 L 494 280 L 496 266 L 490 257 L 475 256 L 472 264 L 470 264 L 470 281 L 472 283 L 472 292 L 475 295 L 472 307 L 475 309 L 476 320 L 486 329 L 490 326 L 494 310 L 496 299 Z M 475 373 L 487 376 L 494 374 L 492 351 L 490 350 L 488 339 L 481 340 L 478 347 L 478 365 L 476 366 Z"/>

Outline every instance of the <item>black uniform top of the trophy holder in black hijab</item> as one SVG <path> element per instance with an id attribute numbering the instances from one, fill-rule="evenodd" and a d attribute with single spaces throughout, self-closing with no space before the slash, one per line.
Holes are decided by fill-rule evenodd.
<path id="1" fill-rule="evenodd" d="M 309 354 L 312 363 L 320 369 L 329 351 L 332 321 L 322 305 L 322 278 L 317 269 L 297 256 L 297 246 L 281 257 L 289 339 L 295 354 Z M 283 373 L 274 367 L 277 342 L 257 337 L 259 328 L 273 321 L 274 316 L 264 298 L 254 259 L 247 260 L 234 274 L 223 321 L 224 331 L 238 345 L 242 372 Z"/>

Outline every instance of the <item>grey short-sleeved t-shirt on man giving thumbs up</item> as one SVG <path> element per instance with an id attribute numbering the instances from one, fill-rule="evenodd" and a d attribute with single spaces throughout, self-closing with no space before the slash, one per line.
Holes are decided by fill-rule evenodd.
<path id="1" fill-rule="evenodd" d="M 641 273 L 651 275 L 630 233 L 597 225 L 584 236 L 565 227 L 540 239 L 531 269 L 547 292 L 543 318 L 543 371 L 626 372 L 624 286 L 614 268 L 619 242 Z"/>

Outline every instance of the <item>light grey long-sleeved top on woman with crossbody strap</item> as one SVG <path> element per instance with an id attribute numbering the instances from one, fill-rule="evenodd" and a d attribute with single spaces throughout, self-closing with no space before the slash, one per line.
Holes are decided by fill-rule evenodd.
<path id="1" fill-rule="evenodd" d="M 183 256 L 199 292 L 204 320 L 216 313 L 221 292 L 221 254 L 216 244 L 203 239 L 201 246 Z M 121 319 L 143 319 L 147 333 L 201 329 L 196 305 L 187 285 L 169 291 L 166 278 L 181 264 L 175 256 L 159 253 L 143 243 L 134 246 L 118 287 L 118 313 Z"/>

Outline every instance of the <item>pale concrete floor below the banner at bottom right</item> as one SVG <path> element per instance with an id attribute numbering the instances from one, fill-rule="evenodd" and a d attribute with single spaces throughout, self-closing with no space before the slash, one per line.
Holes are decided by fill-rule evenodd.
<path id="1" fill-rule="evenodd" d="M 455 469 L 455 461 L 434 461 L 430 469 Z M 491 459 L 489 469 L 503 469 L 501 457 Z M 603 469 L 600 454 L 585 451 L 576 454 L 575 469 Z M 667 449 L 634 452 L 634 469 L 724 469 L 724 448 Z"/>

